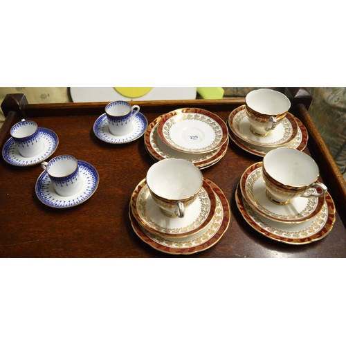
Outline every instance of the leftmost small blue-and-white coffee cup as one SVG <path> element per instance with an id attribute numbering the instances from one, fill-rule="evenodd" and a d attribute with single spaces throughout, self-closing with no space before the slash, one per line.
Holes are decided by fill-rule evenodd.
<path id="1" fill-rule="evenodd" d="M 42 134 L 35 121 L 22 119 L 12 126 L 10 135 L 23 157 L 35 156 L 44 149 Z"/>

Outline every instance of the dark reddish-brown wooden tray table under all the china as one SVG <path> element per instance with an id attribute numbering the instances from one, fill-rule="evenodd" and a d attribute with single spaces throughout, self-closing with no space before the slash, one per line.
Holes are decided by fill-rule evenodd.
<path id="1" fill-rule="evenodd" d="M 262 161 L 230 141 L 226 156 L 203 175 L 226 195 L 231 209 L 228 230 L 219 242 L 190 257 L 346 257 L 345 180 L 307 111 L 309 97 L 300 89 L 287 89 L 291 113 L 309 130 L 304 152 L 320 166 L 321 179 L 336 203 L 336 221 L 327 237 L 293 246 L 275 242 L 253 230 L 235 204 L 235 189 L 249 165 Z M 133 103 L 133 102 L 132 102 Z M 225 122 L 244 98 L 224 100 L 177 100 L 136 102 L 151 122 L 181 107 L 199 107 L 219 115 Z M 154 160 L 147 154 L 143 137 L 125 145 L 104 143 L 93 134 L 93 123 L 104 113 L 105 102 L 28 104 L 25 95 L 7 95 L 2 109 L 6 121 L 0 129 L 1 149 L 9 130 L 21 118 L 35 120 L 52 129 L 60 143 L 53 156 L 71 154 L 98 170 L 100 183 L 93 196 L 74 208 L 45 206 L 35 195 L 40 165 L 16 167 L 1 157 L 0 165 L 0 256 L 1 257 L 174 257 L 142 242 L 129 222 L 129 199 Z"/>

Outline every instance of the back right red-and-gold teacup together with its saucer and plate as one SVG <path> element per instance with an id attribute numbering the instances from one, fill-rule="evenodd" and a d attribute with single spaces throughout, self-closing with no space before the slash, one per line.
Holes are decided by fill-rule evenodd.
<path id="1" fill-rule="evenodd" d="M 257 156 L 277 147 L 302 151 L 307 145 L 307 129 L 289 113 L 286 95 L 271 89 L 257 89 L 246 95 L 245 104 L 228 117 L 230 139 Z"/>

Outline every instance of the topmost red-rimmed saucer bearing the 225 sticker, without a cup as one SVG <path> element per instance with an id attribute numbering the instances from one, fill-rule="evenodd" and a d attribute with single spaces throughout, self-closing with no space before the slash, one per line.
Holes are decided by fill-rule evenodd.
<path id="1" fill-rule="evenodd" d="M 158 122 L 158 136 L 179 152 L 201 154 L 221 147 L 228 137 L 228 128 L 210 111 L 181 108 L 162 116 Z"/>

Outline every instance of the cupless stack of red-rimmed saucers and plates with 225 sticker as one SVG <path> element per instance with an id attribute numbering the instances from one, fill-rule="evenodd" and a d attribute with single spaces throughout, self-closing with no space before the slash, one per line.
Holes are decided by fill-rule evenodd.
<path id="1" fill-rule="evenodd" d="M 219 162 L 229 140 L 224 120 L 199 108 L 181 108 L 159 116 L 148 125 L 144 139 L 154 160 L 183 158 L 199 169 Z"/>

